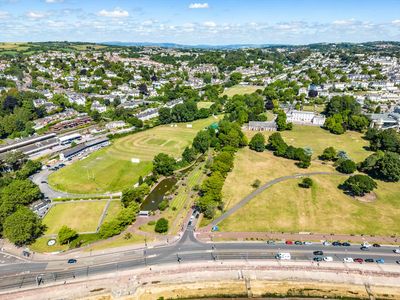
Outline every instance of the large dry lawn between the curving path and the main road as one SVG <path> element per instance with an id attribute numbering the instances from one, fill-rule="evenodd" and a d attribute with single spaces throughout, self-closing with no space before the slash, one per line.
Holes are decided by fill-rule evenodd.
<path id="1" fill-rule="evenodd" d="M 220 224 L 221 231 L 400 234 L 398 183 L 378 182 L 375 202 L 361 202 L 337 186 L 345 176 L 313 176 L 311 189 L 300 179 L 278 183 Z"/>

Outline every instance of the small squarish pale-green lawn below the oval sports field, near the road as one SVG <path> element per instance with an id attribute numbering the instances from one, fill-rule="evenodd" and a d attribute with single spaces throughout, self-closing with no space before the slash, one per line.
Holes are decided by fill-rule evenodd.
<path id="1" fill-rule="evenodd" d="M 64 202 L 54 205 L 43 219 L 45 234 L 58 234 L 63 225 L 81 232 L 94 232 L 107 201 Z"/>

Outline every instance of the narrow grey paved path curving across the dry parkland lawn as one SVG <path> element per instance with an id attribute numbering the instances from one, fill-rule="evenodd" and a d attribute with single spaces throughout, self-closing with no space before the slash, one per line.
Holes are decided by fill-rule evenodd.
<path id="1" fill-rule="evenodd" d="M 219 218 L 215 219 L 211 223 L 211 226 L 216 226 L 218 223 L 221 223 L 223 220 L 228 218 L 230 215 L 234 214 L 236 211 L 238 211 L 243 206 L 245 206 L 254 197 L 258 196 L 259 194 L 261 194 L 263 191 L 265 191 L 267 188 L 269 188 L 270 186 L 272 186 L 274 184 L 277 184 L 279 182 L 282 182 L 282 181 L 285 181 L 285 180 L 289 180 L 289 179 L 296 179 L 296 178 L 315 176 L 315 175 L 345 175 L 345 174 L 340 174 L 340 173 L 335 173 L 335 172 L 312 172 L 312 173 L 295 174 L 295 175 L 283 176 L 283 177 L 275 178 L 275 179 L 273 179 L 271 181 L 268 181 L 266 184 L 260 186 L 258 189 L 256 189 L 251 194 L 247 195 L 240 202 L 238 202 L 236 205 L 234 205 L 231 209 L 229 209 L 228 211 L 223 213 Z M 349 176 L 349 175 L 346 174 L 345 176 Z"/>

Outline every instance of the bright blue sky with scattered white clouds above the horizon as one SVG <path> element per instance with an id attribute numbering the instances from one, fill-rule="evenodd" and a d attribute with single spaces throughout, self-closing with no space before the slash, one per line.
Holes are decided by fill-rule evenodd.
<path id="1" fill-rule="evenodd" d="M 0 0 L 0 41 L 400 41 L 400 0 Z"/>

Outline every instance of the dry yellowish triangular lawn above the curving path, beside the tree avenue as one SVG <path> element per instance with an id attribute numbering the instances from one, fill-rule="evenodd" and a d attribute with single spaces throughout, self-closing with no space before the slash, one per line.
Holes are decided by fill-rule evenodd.
<path id="1" fill-rule="evenodd" d="M 330 165 L 323 165 L 318 161 L 312 161 L 308 169 L 300 169 L 295 165 L 296 161 L 282 157 L 276 157 L 271 151 L 256 152 L 249 148 L 240 149 L 235 156 L 232 172 L 225 180 L 222 189 L 222 198 L 225 208 L 230 208 L 242 200 L 254 188 L 251 186 L 256 179 L 261 184 L 278 177 L 310 172 L 335 172 Z"/>

